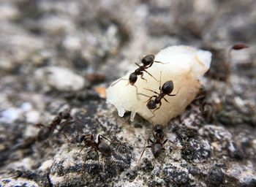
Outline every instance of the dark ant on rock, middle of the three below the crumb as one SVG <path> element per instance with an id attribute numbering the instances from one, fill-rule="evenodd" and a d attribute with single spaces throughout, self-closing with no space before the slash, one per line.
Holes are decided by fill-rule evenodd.
<path id="1" fill-rule="evenodd" d="M 95 142 L 94 141 L 94 135 L 92 135 L 92 134 L 82 134 L 82 135 L 80 135 L 80 137 L 78 137 L 78 136 L 76 137 L 76 141 L 79 142 L 79 143 L 84 142 L 83 148 L 91 147 L 91 150 L 94 150 L 97 153 L 97 159 L 99 161 L 98 151 L 100 153 L 102 153 L 103 156 L 106 156 L 106 157 L 111 156 L 110 145 L 108 145 L 105 142 L 102 142 L 102 138 L 104 138 L 105 140 L 108 140 L 108 138 L 99 134 L 98 135 L 98 142 Z M 108 142 L 111 143 L 110 140 L 108 140 Z M 83 150 L 83 148 L 80 150 L 80 152 Z M 87 154 L 90 153 L 91 150 L 89 150 L 87 152 Z"/>

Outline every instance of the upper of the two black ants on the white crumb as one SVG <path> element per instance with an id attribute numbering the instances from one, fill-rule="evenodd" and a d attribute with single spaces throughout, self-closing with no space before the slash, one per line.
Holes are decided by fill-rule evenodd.
<path id="1" fill-rule="evenodd" d="M 153 75 L 151 75 L 146 69 L 148 69 L 149 67 L 151 67 L 154 62 L 156 63 L 161 63 L 161 64 L 165 64 L 165 63 L 162 63 L 160 61 L 154 61 L 154 58 L 155 56 L 154 55 L 146 55 L 144 56 L 142 59 L 141 59 L 141 63 L 143 64 L 142 66 L 140 66 L 140 64 L 136 63 L 135 64 L 138 67 L 138 69 L 135 69 L 134 72 L 132 72 L 130 75 L 129 75 L 129 82 L 127 83 L 127 85 L 134 85 L 138 91 L 138 88 L 137 86 L 135 85 L 136 81 L 138 80 L 138 76 L 140 75 L 140 78 L 143 79 L 143 80 L 146 80 L 144 77 L 143 77 L 143 72 L 146 72 L 148 75 L 150 75 L 151 77 L 154 78 L 154 80 L 157 80 Z M 116 81 L 116 83 L 118 83 L 120 80 L 127 80 L 127 79 L 119 79 Z M 146 80 L 147 82 L 147 80 Z M 158 82 L 158 80 L 157 80 Z M 113 85 L 116 85 L 116 83 L 113 83 L 111 86 Z"/>

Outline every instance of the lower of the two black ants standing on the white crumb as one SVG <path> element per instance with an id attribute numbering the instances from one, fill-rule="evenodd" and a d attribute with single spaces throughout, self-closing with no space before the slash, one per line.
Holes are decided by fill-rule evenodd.
<path id="1" fill-rule="evenodd" d="M 157 93 L 157 91 L 152 91 L 151 89 L 148 89 L 148 88 L 144 88 L 144 89 L 147 90 L 147 91 L 154 92 L 157 95 L 147 96 L 147 95 L 145 95 L 143 93 L 138 93 L 140 95 L 149 97 L 149 99 L 146 101 L 146 102 L 148 102 L 146 104 L 146 107 L 148 107 L 148 109 L 151 112 L 152 112 L 152 110 L 156 111 L 156 110 L 158 110 L 161 107 L 161 105 L 162 105 L 161 100 L 165 99 L 166 95 L 167 96 L 176 96 L 178 94 L 178 92 L 176 94 L 170 94 L 170 93 L 173 92 L 173 81 L 172 80 L 168 80 L 167 82 L 165 82 L 162 85 L 162 88 L 161 88 L 161 76 L 162 76 L 162 72 L 161 72 L 161 75 L 160 75 L 160 82 L 159 82 L 159 91 L 160 91 L 160 93 Z M 155 99 L 152 99 L 152 98 L 155 98 Z M 168 102 L 167 99 L 165 99 L 165 102 Z M 159 104 L 159 107 L 157 107 L 157 104 Z M 152 112 L 153 116 L 151 118 L 153 118 L 155 116 L 154 115 L 154 111 Z"/>

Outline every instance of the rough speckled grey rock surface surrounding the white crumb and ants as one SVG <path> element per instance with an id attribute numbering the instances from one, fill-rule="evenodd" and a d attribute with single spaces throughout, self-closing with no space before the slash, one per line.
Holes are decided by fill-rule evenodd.
<path id="1" fill-rule="evenodd" d="M 0 186 L 256 186 L 256 2 L 1 0 Z M 236 43 L 249 48 L 227 51 Z M 105 88 L 170 45 L 213 53 L 198 97 L 140 154 L 152 125 L 120 118 Z M 67 76 L 65 76 L 65 72 Z M 230 72 L 230 73 L 228 73 Z M 228 81 L 226 81 L 228 80 Z M 61 122 L 39 141 L 38 123 Z M 77 143 L 102 134 L 111 155 Z"/>

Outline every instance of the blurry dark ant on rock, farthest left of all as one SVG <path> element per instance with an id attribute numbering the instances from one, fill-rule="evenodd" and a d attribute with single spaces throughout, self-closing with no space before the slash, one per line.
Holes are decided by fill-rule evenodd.
<path id="1" fill-rule="evenodd" d="M 61 121 L 65 120 L 69 121 L 72 120 L 72 116 L 69 112 L 70 110 L 64 110 L 64 112 L 59 112 L 59 114 L 53 118 L 53 121 L 50 123 L 50 126 L 45 126 L 42 123 L 37 124 L 37 126 L 39 128 L 42 127 L 42 129 L 40 129 L 40 131 L 37 134 L 37 141 L 42 141 L 42 140 L 46 140 L 48 139 L 48 137 L 50 137 L 51 134 L 53 134 L 53 131 L 57 128 L 57 126 L 61 125 Z M 64 136 L 66 137 L 66 135 L 64 134 Z"/>

